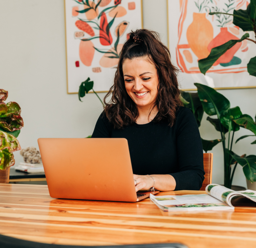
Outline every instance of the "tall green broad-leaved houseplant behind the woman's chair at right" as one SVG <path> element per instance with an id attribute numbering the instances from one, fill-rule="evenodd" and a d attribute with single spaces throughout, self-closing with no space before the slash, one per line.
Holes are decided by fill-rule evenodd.
<path id="1" fill-rule="evenodd" d="M 190 108 L 194 113 L 198 126 L 200 126 L 203 116 L 203 109 L 203 111 L 209 115 L 207 120 L 213 124 L 218 132 L 220 132 L 221 137 L 218 137 L 218 139 L 215 140 L 202 139 L 202 144 L 204 151 L 207 152 L 212 150 L 218 143 L 222 143 L 224 154 L 224 186 L 231 188 L 237 164 L 240 164 L 243 167 L 247 180 L 255 182 L 256 156 L 246 156 L 245 154 L 239 156 L 232 151 L 234 133 L 237 132 L 240 127 L 248 129 L 254 133 L 253 135 L 244 135 L 237 139 L 237 141 L 248 136 L 256 135 L 255 121 L 251 116 L 242 114 L 238 106 L 230 108 L 229 100 L 213 88 L 200 83 L 195 83 L 194 85 L 197 87 L 198 92 L 183 92 L 183 98 L 189 102 L 189 104 L 186 104 L 186 107 Z M 211 118 L 210 116 L 216 116 L 217 118 Z M 256 140 L 252 142 L 252 144 L 256 144 Z M 231 165 L 234 165 L 233 169 Z"/>

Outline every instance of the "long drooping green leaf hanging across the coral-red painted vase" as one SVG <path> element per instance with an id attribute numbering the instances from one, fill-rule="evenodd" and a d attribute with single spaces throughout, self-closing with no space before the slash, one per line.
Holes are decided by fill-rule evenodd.
<path id="1" fill-rule="evenodd" d="M 209 56 L 205 59 L 200 59 L 198 61 L 198 66 L 200 71 L 205 75 L 205 73 L 211 68 L 211 66 L 214 64 L 214 62 L 228 49 L 230 49 L 232 46 L 234 46 L 237 42 L 243 41 L 245 38 L 249 37 L 249 33 L 246 33 L 242 36 L 240 40 L 230 40 L 224 43 L 221 46 L 216 46 L 213 49 L 211 49 L 211 53 Z"/>

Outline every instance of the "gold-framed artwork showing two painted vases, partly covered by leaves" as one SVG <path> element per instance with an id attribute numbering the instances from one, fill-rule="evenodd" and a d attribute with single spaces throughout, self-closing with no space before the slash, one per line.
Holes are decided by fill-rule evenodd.
<path id="1" fill-rule="evenodd" d="M 249 0 L 167 0 L 168 44 L 172 62 L 180 69 L 183 90 L 196 90 L 194 83 L 216 89 L 255 88 L 256 78 L 247 72 L 247 63 L 255 54 L 255 44 L 244 40 L 222 55 L 204 76 L 198 60 L 208 57 L 213 47 L 239 40 L 245 32 L 233 24 L 231 15 L 246 9 Z M 254 32 L 248 32 L 250 38 Z"/>

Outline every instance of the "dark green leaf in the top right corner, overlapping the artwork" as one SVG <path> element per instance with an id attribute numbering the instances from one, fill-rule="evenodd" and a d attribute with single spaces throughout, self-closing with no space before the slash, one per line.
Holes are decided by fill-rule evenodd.
<path id="1" fill-rule="evenodd" d="M 233 24 L 242 28 L 243 31 L 253 31 L 253 22 L 250 19 L 251 6 L 247 6 L 246 10 L 234 10 Z"/>

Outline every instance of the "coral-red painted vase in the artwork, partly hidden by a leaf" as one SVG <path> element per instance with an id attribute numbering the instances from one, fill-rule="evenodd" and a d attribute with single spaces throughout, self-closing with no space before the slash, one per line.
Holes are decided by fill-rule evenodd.
<path id="1" fill-rule="evenodd" d="M 235 35 L 232 35 L 232 33 L 229 33 L 227 28 L 221 28 L 221 32 L 208 45 L 209 52 L 211 52 L 212 48 L 216 46 L 220 46 L 229 40 L 239 40 L 239 38 L 237 38 Z M 221 64 L 229 63 L 241 45 L 242 45 L 241 42 L 237 42 L 234 46 L 232 46 L 232 48 L 228 49 L 226 53 L 221 55 L 219 59 L 217 59 L 217 61 L 213 64 L 213 66 L 216 66 L 219 63 Z"/>

